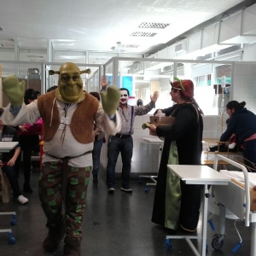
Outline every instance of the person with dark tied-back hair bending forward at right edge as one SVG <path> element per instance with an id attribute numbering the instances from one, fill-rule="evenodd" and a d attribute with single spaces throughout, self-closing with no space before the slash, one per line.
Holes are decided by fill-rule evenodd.
<path id="1" fill-rule="evenodd" d="M 220 141 L 228 141 L 235 133 L 237 142 L 242 145 L 244 165 L 249 172 L 256 172 L 256 115 L 244 108 L 245 105 L 246 102 L 228 102 L 226 110 L 230 122 Z"/>

